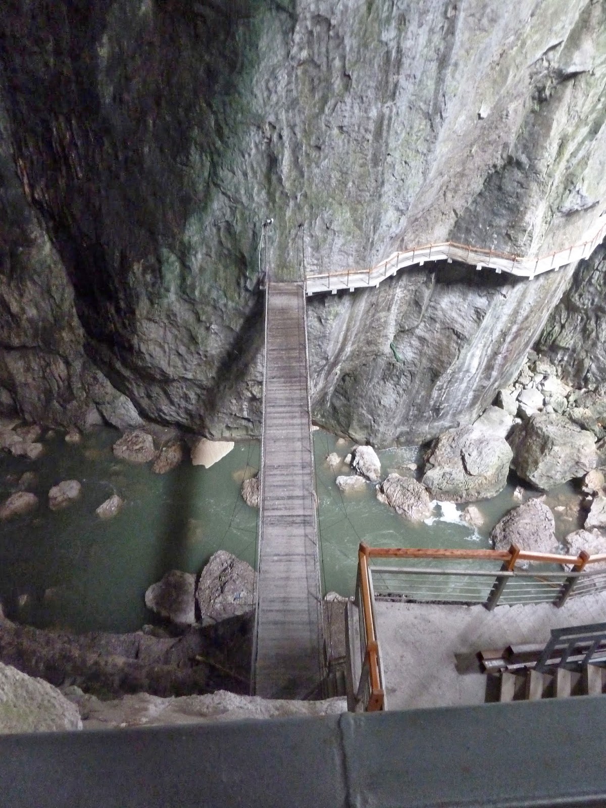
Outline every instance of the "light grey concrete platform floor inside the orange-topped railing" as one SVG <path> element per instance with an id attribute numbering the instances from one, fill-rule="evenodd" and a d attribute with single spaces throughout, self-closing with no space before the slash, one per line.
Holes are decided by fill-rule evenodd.
<path id="1" fill-rule="evenodd" d="M 562 608 L 498 606 L 494 612 L 377 600 L 376 614 L 389 710 L 479 705 L 486 676 L 472 670 L 478 671 L 476 651 L 547 642 L 551 629 L 605 622 L 606 592 L 571 599 Z"/>

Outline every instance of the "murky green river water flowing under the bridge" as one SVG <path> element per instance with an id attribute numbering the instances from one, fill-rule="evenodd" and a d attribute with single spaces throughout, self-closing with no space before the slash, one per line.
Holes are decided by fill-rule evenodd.
<path id="1" fill-rule="evenodd" d="M 116 460 L 112 444 L 119 436 L 99 428 L 80 444 L 66 444 L 58 432 L 43 440 L 46 452 L 38 461 L 0 454 L 0 501 L 15 490 L 15 475 L 38 474 L 37 511 L 0 523 L 0 600 L 16 609 L 19 595 L 27 595 L 19 621 L 77 632 L 133 631 L 154 621 L 145 608 L 145 589 L 167 570 L 197 573 L 217 549 L 255 564 L 257 511 L 242 500 L 240 483 L 246 469 L 258 468 L 258 441 L 237 443 L 210 469 L 184 461 L 158 475 L 149 465 Z M 314 431 L 325 591 L 353 593 L 361 540 L 375 546 L 488 547 L 492 526 L 518 504 L 513 485 L 477 503 L 486 518 L 481 532 L 461 523 L 464 505 L 450 503 L 436 505 L 432 524 L 410 524 L 377 501 L 374 486 L 339 492 L 335 474 L 349 470 L 333 469 L 326 455 L 344 457 L 352 445 Z M 379 456 L 384 476 L 416 460 L 412 448 Z M 48 489 L 65 479 L 82 483 L 82 497 L 50 511 Z M 115 518 L 100 520 L 95 508 L 114 492 L 124 507 Z"/>

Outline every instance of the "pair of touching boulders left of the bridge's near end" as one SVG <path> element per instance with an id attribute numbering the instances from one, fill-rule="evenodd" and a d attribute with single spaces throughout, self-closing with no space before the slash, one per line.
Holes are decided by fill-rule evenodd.
<path id="1" fill-rule="evenodd" d="M 178 625 L 217 622 L 252 612 L 256 585 L 250 564 L 217 550 L 197 585 L 196 575 L 170 570 L 145 592 L 145 605 Z"/>

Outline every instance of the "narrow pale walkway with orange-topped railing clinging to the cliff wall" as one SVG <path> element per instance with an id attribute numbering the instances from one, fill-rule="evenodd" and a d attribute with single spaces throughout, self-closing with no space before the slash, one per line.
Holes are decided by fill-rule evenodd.
<path id="1" fill-rule="evenodd" d="M 494 269 L 497 274 L 507 272 L 510 275 L 532 280 L 542 272 L 552 269 L 557 271 L 568 263 L 588 258 L 605 236 L 606 221 L 600 223 L 599 219 L 587 232 L 587 238 L 583 242 L 566 246 L 562 250 L 554 250 L 548 255 L 541 255 L 538 258 L 499 252 L 499 250 L 486 250 L 484 247 L 457 242 L 424 244 L 409 250 L 398 250 L 372 267 L 351 268 L 318 275 L 309 274 L 305 278 L 305 288 L 308 296 L 326 294 L 326 292 L 336 294 L 339 289 L 349 289 L 350 292 L 353 292 L 355 288 L 378 287 L 382 280 L 395 275 L 398 269 L 403 267 L 410 267 L 414 264 L 423 266 L 426 261 L 452 263 L 453 260 L 475 265 L 476 269 L 486 267 Z"/>

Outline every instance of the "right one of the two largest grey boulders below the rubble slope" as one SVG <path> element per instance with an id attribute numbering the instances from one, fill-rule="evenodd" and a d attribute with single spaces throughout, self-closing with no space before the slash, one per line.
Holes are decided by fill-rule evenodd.
<path id="1" fill-rule="evenodd" d="M 595 437 L 562 415 L 532 415 L 511 436 L 512 467 L 542 490 L 583 477 L 597 463 Z"/>

